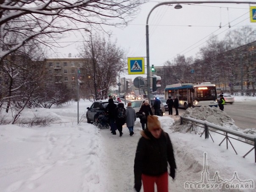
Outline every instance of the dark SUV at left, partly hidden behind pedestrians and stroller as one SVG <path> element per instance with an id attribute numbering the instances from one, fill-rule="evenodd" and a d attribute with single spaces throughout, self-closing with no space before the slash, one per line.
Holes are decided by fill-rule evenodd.
<path id="1" fill-rule="evenodd" d="M 118 101 L 114 101 L 117 105 Z M 92 106 L 87 107 L 86 119 L 88 123 L 95 122 L 94 116 L 98 111 L 105 111 L 106 106 L 109 104 L 109 101 L 96 100 L 92 103 Z"/>

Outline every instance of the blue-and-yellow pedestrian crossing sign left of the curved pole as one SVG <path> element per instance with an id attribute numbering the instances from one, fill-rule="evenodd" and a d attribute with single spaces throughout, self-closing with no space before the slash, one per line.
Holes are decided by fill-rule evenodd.
<path id="1" fill-rule="evenodd" d="M 128 74 L 145 74 L 144 57 L 128 57 Z"/>

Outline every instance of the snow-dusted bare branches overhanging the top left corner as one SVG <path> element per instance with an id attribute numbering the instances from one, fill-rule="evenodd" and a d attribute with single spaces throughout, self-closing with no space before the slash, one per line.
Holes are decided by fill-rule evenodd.
<path id="1" fill-rule="evenodd" d="M 67 31 L 127 24 L 143 0 L 0 0 L 0 61 L 28 42 L 53 46 Z"/>

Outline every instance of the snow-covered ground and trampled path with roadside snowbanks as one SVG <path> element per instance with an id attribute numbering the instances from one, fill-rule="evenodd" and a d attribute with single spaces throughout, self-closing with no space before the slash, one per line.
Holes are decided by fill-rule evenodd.
<path id="1" fill-rule="evenodd" d="M 248 98 L 235 99 L 239 102 Z M 256 100 L 256 97 L 250 99 Z M 81 100 L 80 114 L 85 114 L 86 107 L 91 104 Z M 234 121 L 219 109 L 189 109 L 184 115 L 203 116 L 209 122 L 220 122 L 216 120 L 222 116 L 221 126 L 237 129 Z M 77 103 L 53 109 L 26 109 L 19 120 L 26 122 L 33 117 L 42 116 L 55 120 L 46 127 L 0 125 L 0 192 L 134 191 L 134 156 L 140 138 L 139 132 L 142 130 L 139 119 L 136 120 L 134 136 L 129 135 L 128 128 L 124 125 L 124 135 L 121 138 L 118 134 L 112 135 L 109 129 L 99 130 L 88 124 L 86 119 L 77 125 Z M 200 128 L 196 128 L 198 134 L 186 131 L 190 125 L 179 125 L 178 118 L 175 118 L 175 122 L 174 117 L 167 115 L 159 117 L 159 120 L 164 131 L 169 133 L 175 151 L 177 171 L 175 180 L 169 177 L 170 191 L 198 191 L 199 189 L 191 189 L 186 184 L 192 182 L 197 184 L 196 187 L 202 187 L 201 177 L 206 173 L 206 168 L 209 175 L 203 179 L 208 179 L 208 184 L 213 183 L 210 180 L 214 180 L 216 172 L 219 178 L 225 180 L 234 178 L 236 172 L 238 178 L 234 181 L 235 186 L 246 180 L 248 185 L 254 187 L 246 191 L 255 191 L 254 150 L 245 158 L 242 157 L 253 146 L 231 139 L 238 153 L 236 155 L 230 144 L 228 150 L 225 142 L 219 146 L 223 139 L 219 134 L 211 133 L 214 139 L 212 142 L 211 139 L 200 137 L 203 131 Z M 204 162 L 207 162 L 205 168 Z M 184 189 L 188 186 L 190 189 Z M 207 191 L 234 189 L 222 186 L 219 189 L 208 188 Z"/>

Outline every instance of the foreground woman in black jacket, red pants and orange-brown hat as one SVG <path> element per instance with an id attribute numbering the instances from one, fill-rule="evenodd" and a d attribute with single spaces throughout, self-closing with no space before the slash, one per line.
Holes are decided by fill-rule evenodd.
<path id="1" fill-rule="evenodd" d="M 157 116 L 147 116 L 147 129 L 141 132 L 134 159 L 134 188 L 139 192 L 168 192 L 169 175 L 175 178 L 176 163 L 169 135 L 161 129 Z"/>

